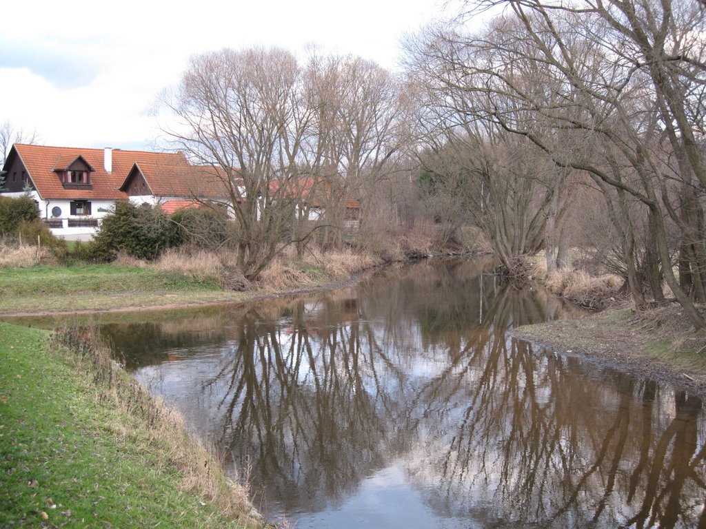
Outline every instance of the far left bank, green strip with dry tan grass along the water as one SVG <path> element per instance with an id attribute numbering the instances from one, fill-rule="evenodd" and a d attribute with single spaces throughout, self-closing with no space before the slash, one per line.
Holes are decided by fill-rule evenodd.
<path id="1" fill-rule="evenodd" d="M 28 265 L 1 269 L 0 315 L 170 308 L 239 302 L 321 288 L 380 264 L 353 252 L 282 256 L 249 283 L 205 252 L 169 252 L 155 262 L 123 257 L 108 265 Z M 237 289 L 237 290 L 234 290 Z"/>

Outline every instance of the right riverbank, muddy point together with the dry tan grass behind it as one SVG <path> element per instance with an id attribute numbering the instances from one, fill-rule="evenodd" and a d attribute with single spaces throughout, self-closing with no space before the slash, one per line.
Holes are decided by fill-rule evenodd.
<path id="1" fill-rule="evenodd" d="M 706 332 L 693 328 L 676 300 L 636 310 L 615 274 L 547 272 L 537 260 L 530 270 L 551 293 L 595 312 L 579 320 L 519 327 L 514 336 L 706 396 Z"/>

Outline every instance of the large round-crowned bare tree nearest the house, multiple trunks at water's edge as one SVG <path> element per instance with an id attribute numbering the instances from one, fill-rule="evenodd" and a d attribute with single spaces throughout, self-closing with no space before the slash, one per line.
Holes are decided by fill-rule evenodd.
<path id="1" fill-rule="evenodd" d="M 283 245 L 299 202 L 302 140 L 311 111 L 292 54 L 251 49 L 195 56 L 179 90 L 164 97 L 179 118 L 168 133 L 210 166 L 238 226 L 238 262 L 255 277 Z"/>

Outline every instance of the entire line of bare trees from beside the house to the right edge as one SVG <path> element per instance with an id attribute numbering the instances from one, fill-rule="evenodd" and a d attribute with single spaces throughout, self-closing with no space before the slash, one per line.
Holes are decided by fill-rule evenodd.
<path id="1" fill-rule="evenodd" d="M 498 14 L 471 30 L 488 9 Z M 544 252 L 550 272 L 580 246 L 624 277 L 636 307 L 664 302 L 664 281 L 701 328 L 704 10 L 696 0 L 469 0 L 407 39 L 399 75 L 354 57 L 300 63 L 281 49 L 203 54 L 162 98 L 177 118 L 167 133 L 240 205 L 246 275 L 314 234 L 323 248 L 342 244 L 354 196 L 361 239 L 432 219 L 448 241 L 471 223 L 506 269 Z M 308 195 L 325 190 L 316 226 L 302 182 Z"/>

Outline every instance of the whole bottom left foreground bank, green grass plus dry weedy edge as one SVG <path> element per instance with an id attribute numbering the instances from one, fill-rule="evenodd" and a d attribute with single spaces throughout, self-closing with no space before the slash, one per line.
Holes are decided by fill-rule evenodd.
<path id="1" fill-rule="evenodd" d="M 90 337 L 0 323 L 0 527 L 236 528 L 255 514 Z"/>

